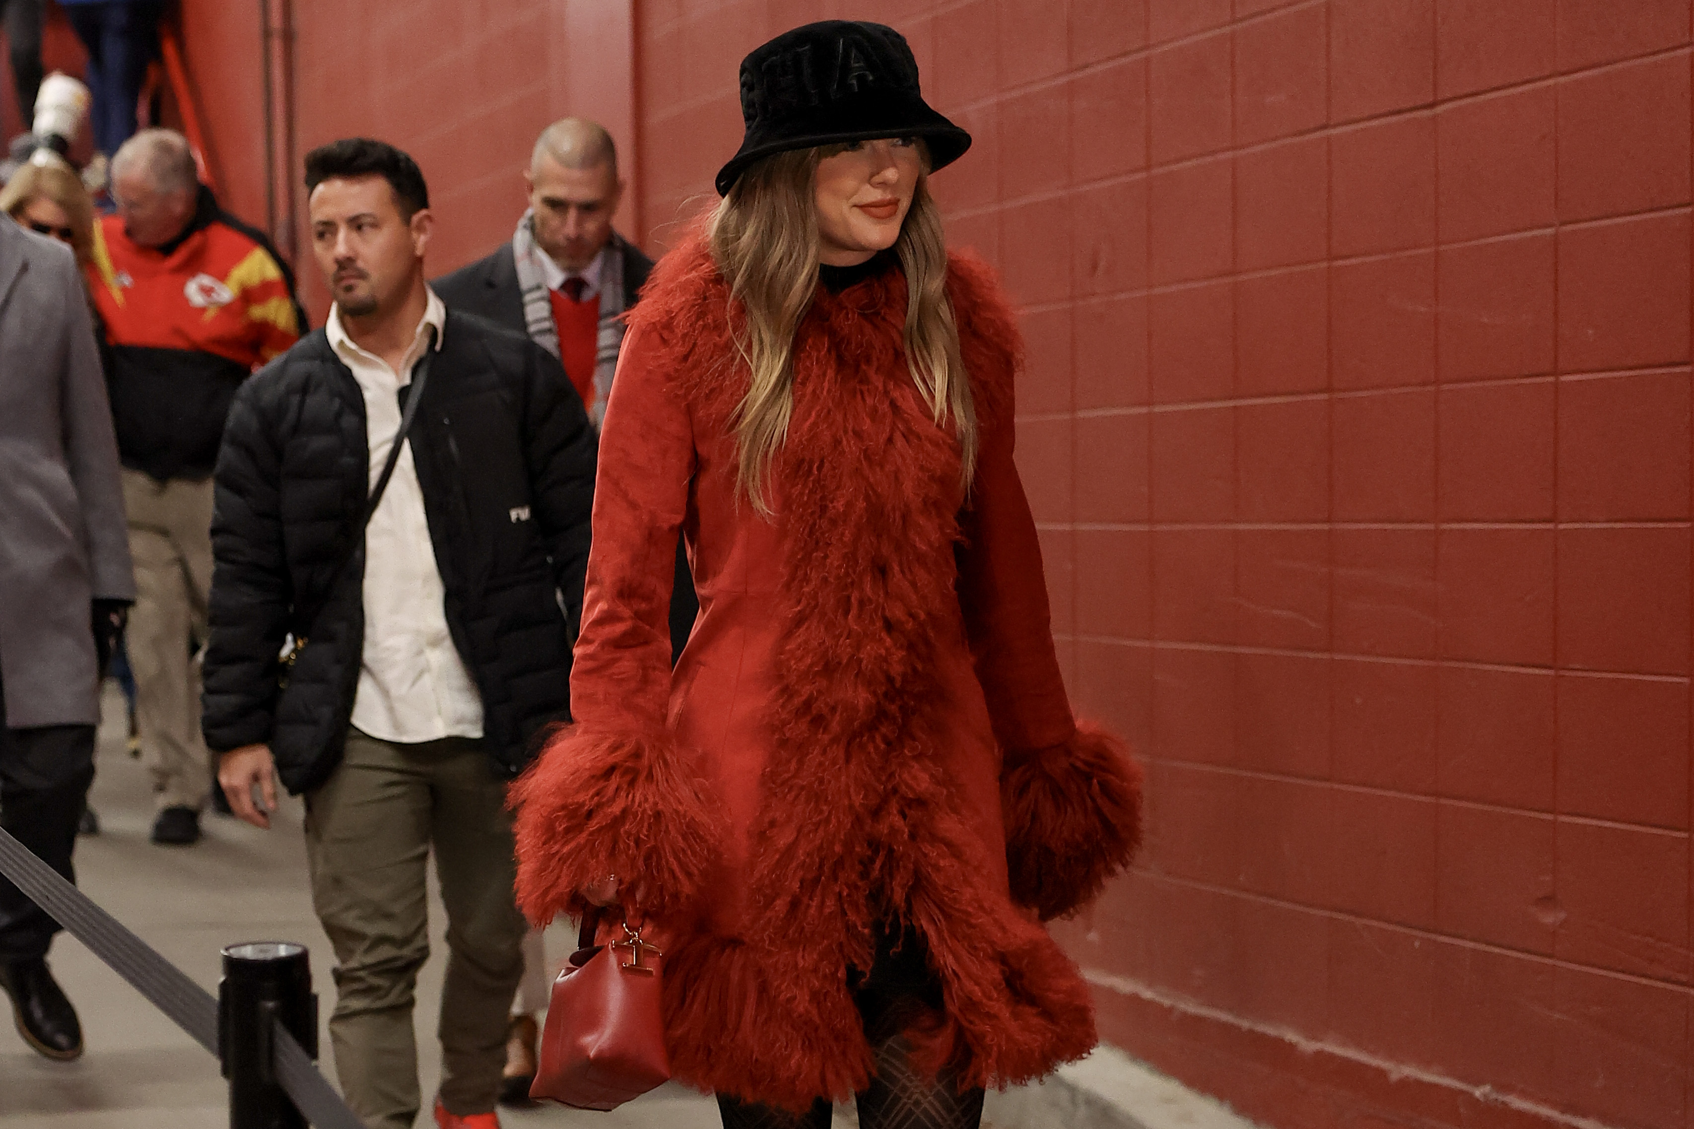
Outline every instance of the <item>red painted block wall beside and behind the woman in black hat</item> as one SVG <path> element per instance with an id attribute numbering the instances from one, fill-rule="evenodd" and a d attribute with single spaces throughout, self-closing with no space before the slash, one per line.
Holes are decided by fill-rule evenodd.
<path id="1" fill-rule="evenodd" d="M 300 0 L 302 151 L 408 147 L 446 269 L 598 95 L 659 251 L 742 52 L 908 36 L 1066 674 L 1149 765 L 1060 928 L 1103 1034 L 1282 1129 L 1694 1129 L 1689 0 L 632 7 Z"/>

